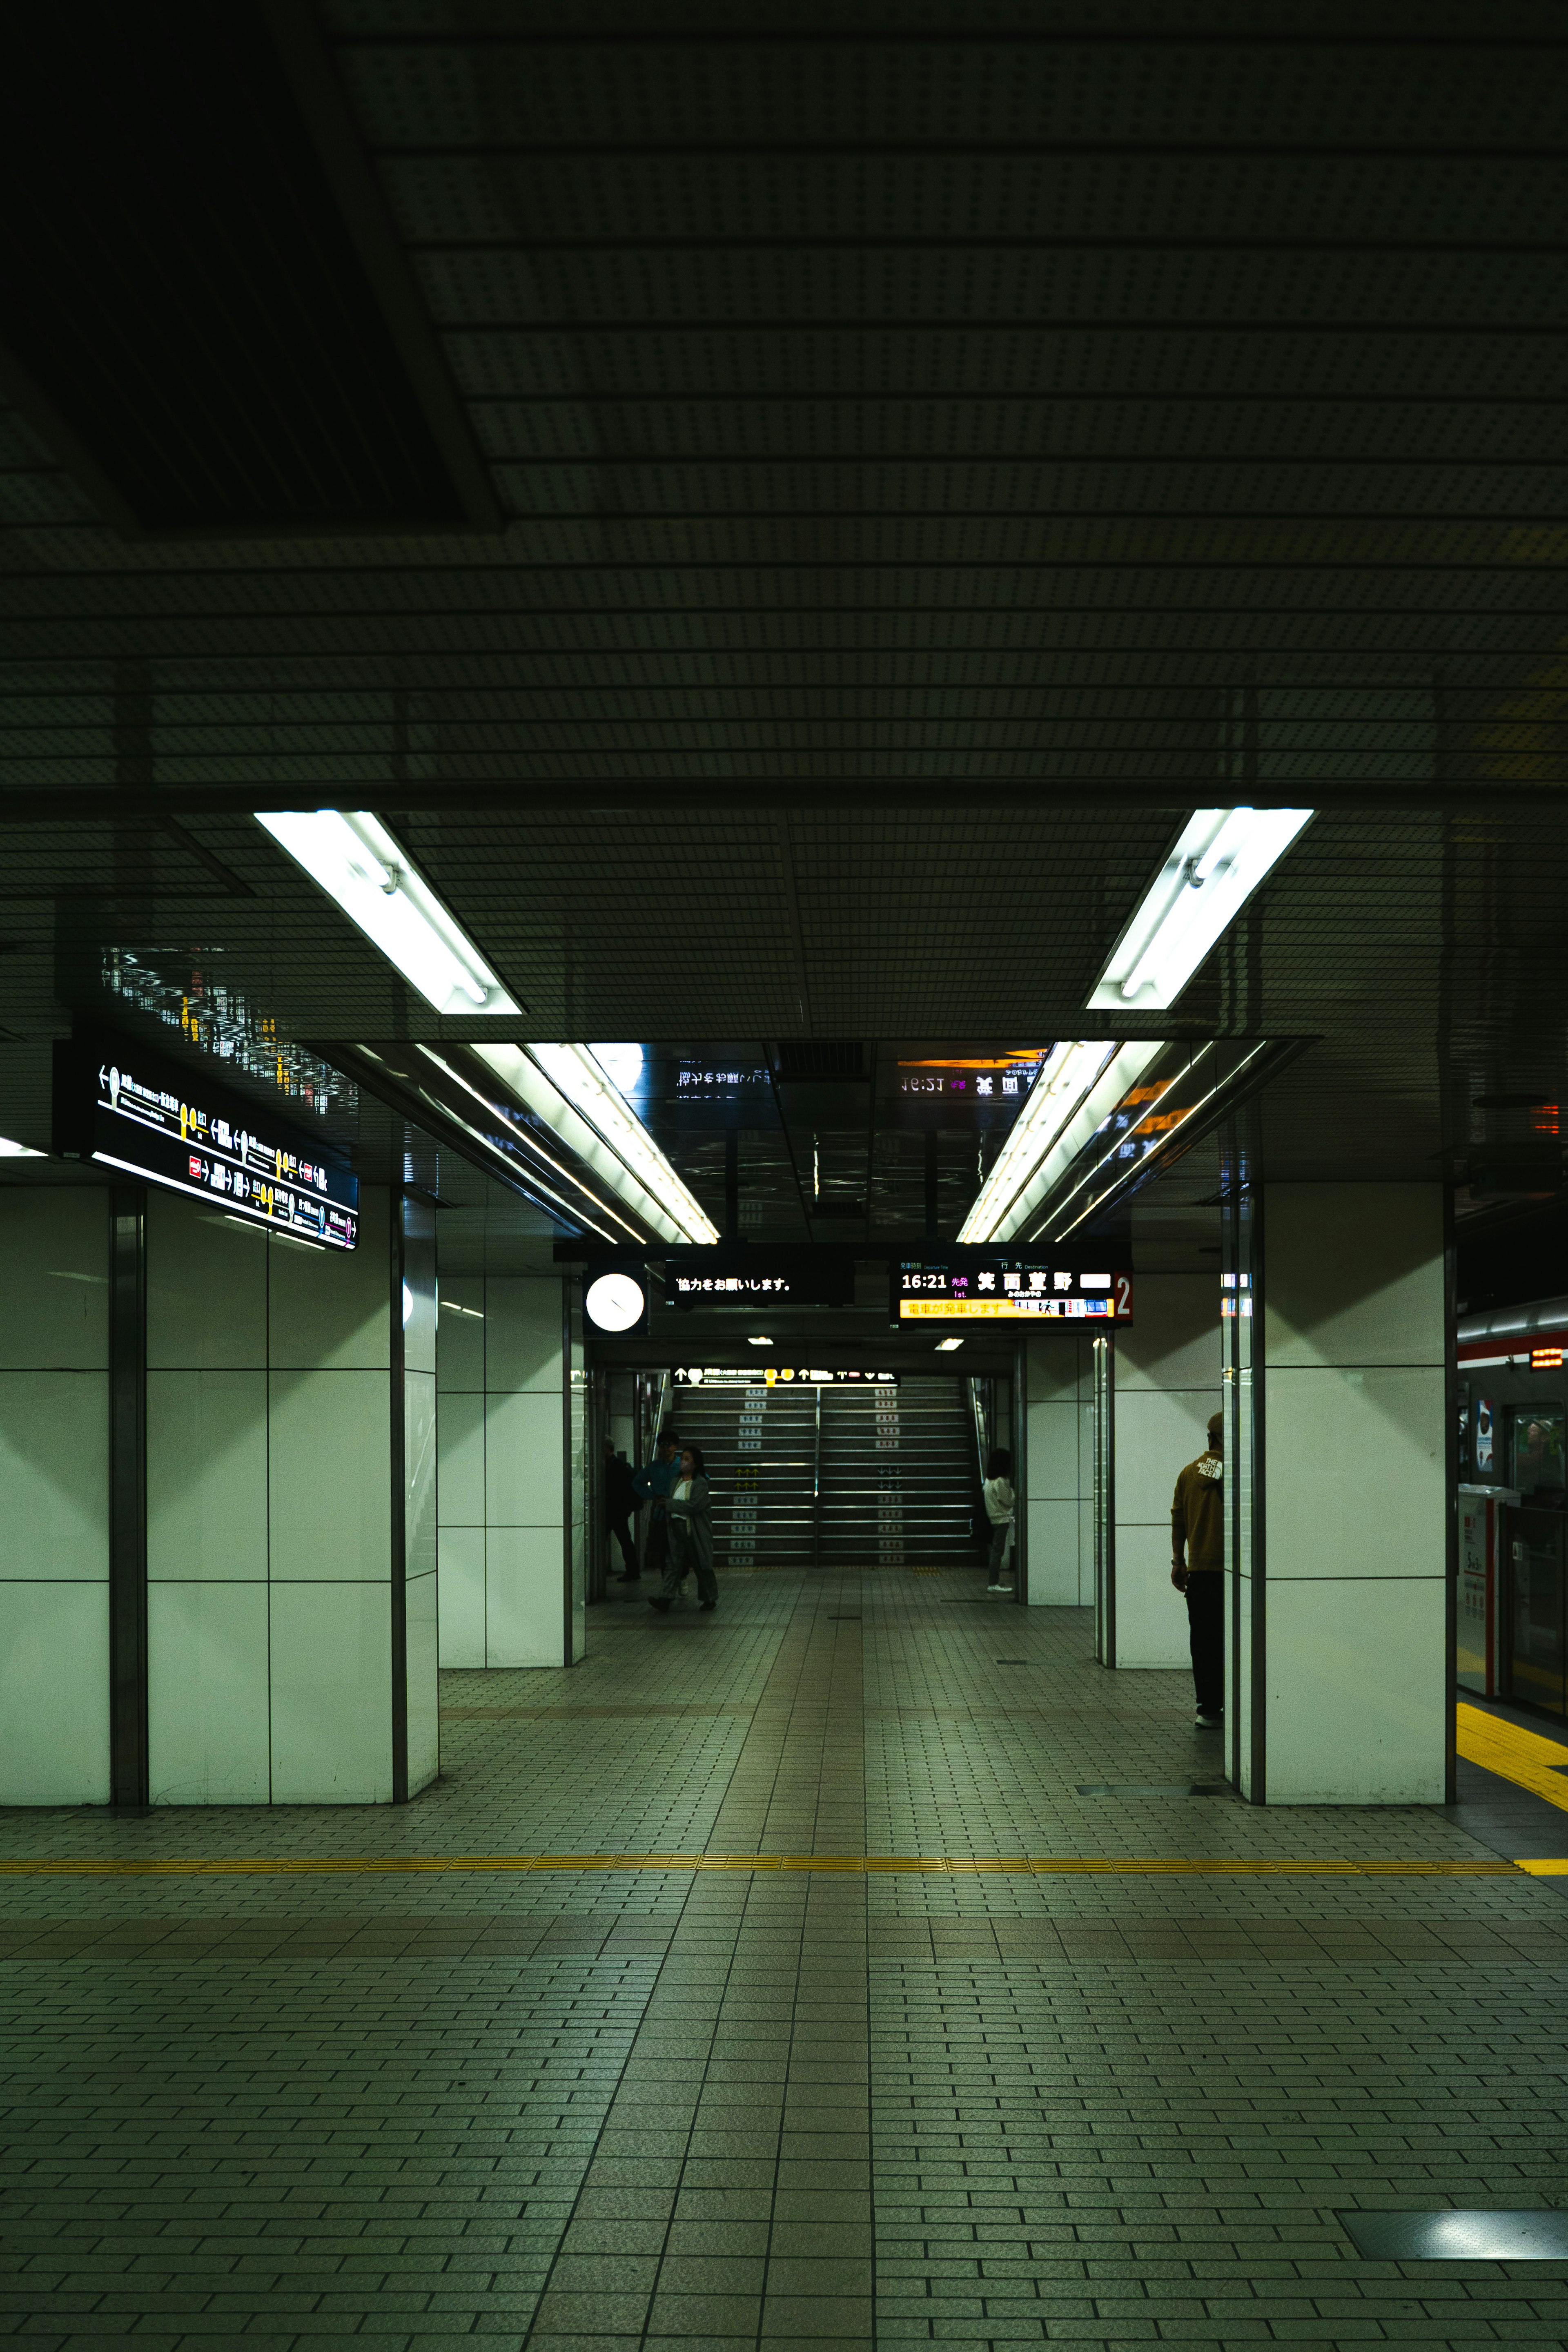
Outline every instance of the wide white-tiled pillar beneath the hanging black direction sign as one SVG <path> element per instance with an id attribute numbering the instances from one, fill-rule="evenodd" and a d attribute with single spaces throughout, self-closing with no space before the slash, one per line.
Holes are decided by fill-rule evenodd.
<path id="1" fill-rule="evenodd" d="M 435 1778 L 435 1272 L 400 1211 L 367 1188 L 339 1256 L 148 1197 L 153 1804 Z"/>

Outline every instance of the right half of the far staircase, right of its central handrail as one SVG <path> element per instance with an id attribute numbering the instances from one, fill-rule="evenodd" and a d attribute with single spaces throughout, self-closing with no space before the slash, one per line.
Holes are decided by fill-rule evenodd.
<path id="1" fill-rule="evenodd" d="M 961 1381 L 825 1388 L 818 1486 L 825 1569 L 964 1569 L 985 1557 Z"/>

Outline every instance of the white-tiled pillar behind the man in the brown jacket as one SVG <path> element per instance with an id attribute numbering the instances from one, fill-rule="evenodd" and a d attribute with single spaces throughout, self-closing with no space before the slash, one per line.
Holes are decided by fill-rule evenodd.
<path id="1" fill-rule="evenodd" d="M 1220 1409 L 1215 1275 L 1138 1275 L 1117 1331 L 1117 1649 L 1107 1665 L 1187 1665 L 1187 1604 L 1171 1583 L 1175 1475 Z"/>

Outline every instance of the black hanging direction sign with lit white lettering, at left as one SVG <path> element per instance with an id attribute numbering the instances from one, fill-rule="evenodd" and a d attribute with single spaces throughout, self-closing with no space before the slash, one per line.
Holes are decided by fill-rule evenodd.
<path id="1" fill-rule="evenodd" d="M 56 1051 L 54 1148 L 322 1249 L 353 1249 L 360 1237 L 357 1176 L 254 1103 L 125 1037 Z"/>

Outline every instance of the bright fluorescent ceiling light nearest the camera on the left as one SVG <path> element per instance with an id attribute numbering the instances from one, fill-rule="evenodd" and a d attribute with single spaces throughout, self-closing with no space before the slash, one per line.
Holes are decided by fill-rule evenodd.
<path id="1" fill-rule="evenodd" d="M 517 1014 L 468 931 L 369 809 L 256 809 L 256 823 L 437 1014 Z"/>

